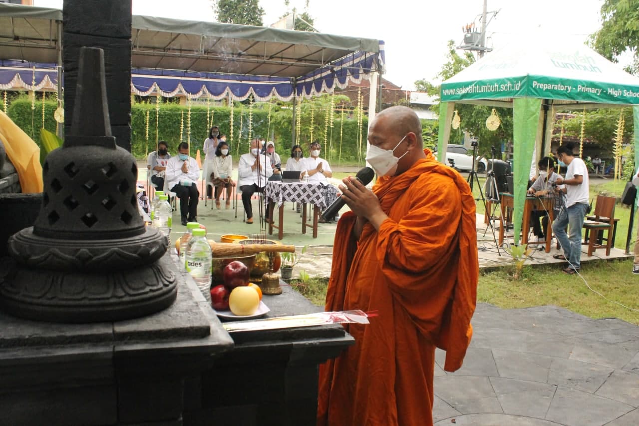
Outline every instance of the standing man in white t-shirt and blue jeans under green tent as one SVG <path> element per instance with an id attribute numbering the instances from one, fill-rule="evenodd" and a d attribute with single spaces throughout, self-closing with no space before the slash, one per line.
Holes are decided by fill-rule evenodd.
<path id="1" fill-rule="evenodd" d="M 585 162 L 573 154 L 572 143 L 567 143 L 557 148 L 557 158 L 568 165 L 566 178 L 558 177 L 555 181 L 557 185 L 565 185 L 566 207 L 562 210 L 555 222 L 553 222 L 553 232 L 557 237 L 563 255 L 555 255 L 554 258 L 565 258 L 569 265 L 562 271 L 572 275 L 581 267 L 581 227 L 583 219 L 588 210 L 588 198 L 590 185 L 588 179 L 588 169 Z M 568 233 L 566 233 L 568 226 Z"/>

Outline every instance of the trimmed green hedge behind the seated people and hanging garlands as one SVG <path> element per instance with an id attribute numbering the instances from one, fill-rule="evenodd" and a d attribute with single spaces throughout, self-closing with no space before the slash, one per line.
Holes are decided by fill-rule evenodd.
<path id="1" fill-rule="evenodd" d="M 45 101 L 45 129 L 56 132 L 56 122 L 53 113 L 57 108 L 56 101 L 47 99 Z M 146 111 L 149 111 L 149 135 L 148 146 L 146 140 Z M 231 109 L 229 107 L 211 107 L 213 122 L 220 127 L 220 132 L 230 138 L 229 118 Z M 24 130 L 27 135 L 40 144 L 40 128 L 42 127 L 42 100 L 36 102 L 35 110 L 31 109 L 31 101 L 26 97 L 13 100 L 7 111 L 10 118 Z M 180 135 L 180 122 L 184 113 L 184 129 Z M 242 114 L 242 132 L 240 130 L 240 114 Z M 240 154 L 249 150 L 249 107 L 234 107 L 233 114 L 233 141 L 230 141 L 233 155 L 236 155 L 238 148 Z M 335 114 L 339 118 L 339 114 Z M 131 151 L 138 159 L 144 159 L 147 152 L 155 150 L 155 104 L 135 103 L 131 108 Z M 324 117 L 316 112 L 314 115 L 313 139 L 322 143 L 322 157 L 327 158 L 333 164 L 337 164 L 339 159 L 346 164 L 354 162 L 362 163 L 366 157 L 366 138 L 368 129 L 367 117 L 362 123 L 361 145 L 358 138 L 358 126 L 355 119 L 344 119 L 343 137 L 340 143 L 341 120 L 334 120 L 334 127 L 328 128 L 327 143 L 324 138 Z M 255 104 L 252 111 L 252 137 L 263 136 L 267 140 L 273 139 L 277 152 L 282 156 L 282 161 L 286 161 L 291 150 L 291 122 L 292 110 L 290 106 L 279 106 L 273 104 L 270 122 L 270 137 L 267 137 L 269 130 L 268 104 Z M 180 141 L 187 141 L 188 108 L 178 104 L 160 104 L 159 120 L 157 125 L 158 140 L 165 140 L 169 143 L 169 151 L 175 152 Z M 302 131 L 300 141 L 304 147 L 304 154 L 308 155 L 308 145 L 310 138 L 310 115 L 307 109 L 302 113 Z M 204 145 L 204 139 L 208 136 L 206 126 L 206 107 L 194 106 L 191 108 L 190 141 L 192 152 L 200 150 Z M 238 141 L 239 144 L 238 145 Z M 340 154 L 341 151 L 341 154 Z"/>

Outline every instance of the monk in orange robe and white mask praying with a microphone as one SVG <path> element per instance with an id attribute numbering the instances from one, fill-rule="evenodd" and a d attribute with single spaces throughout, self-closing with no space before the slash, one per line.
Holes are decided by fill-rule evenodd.
<path id="1" fill-rule="evenodd" d="M 369 190 L 340 186 L 351 211 L 337 224 L 327 311 L 376 312 L 350 324 L 355 345 L 319 368 L 320 426 L 433 424 L 435 348 L 458 370 L 472 336 L 479 264 L 475 201 L 458 172 L 422 146 L 408 107 L 377 114 Z"/>

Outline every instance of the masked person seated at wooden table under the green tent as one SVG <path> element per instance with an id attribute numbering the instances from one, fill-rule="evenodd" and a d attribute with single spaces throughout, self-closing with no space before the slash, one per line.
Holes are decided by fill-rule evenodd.
<path id="1" fill-rule="evenodd" d="M 555 173 L 555 159 L 552 157 L 543 157 L 537 163 L 537 167 L 539 167 L 539 178 L 537 178 L 535 183 L 528 189 L 528 195 L 535 197 L 553 196 L 555 198 L 553 210 L 554 214 L 557 215 L 563 206 L 563 193 L 555 191 L 555 182 L 559 177 L 559 175 Z M 539 226 L 539 219 L 541 218 L 543 218 L 543 226 Z M 548 228 L 548 214 L 546 214 L 544 210 L 533 210 L 530 212 L 530 225 L 532 225 L 532 232 L 535 237 L 534 239 L 530 239 L 529 242 L 544 241 L 544 230 Z M 544 247 L 539 246 L 538 249 L 541 250 L 544 249 Z"/>

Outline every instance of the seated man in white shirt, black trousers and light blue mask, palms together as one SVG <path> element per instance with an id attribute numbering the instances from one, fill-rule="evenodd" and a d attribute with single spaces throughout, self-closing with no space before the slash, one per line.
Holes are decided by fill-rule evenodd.
<path id="1" fill-rule="evenodd" d="M 197 222 L 197 180 L 199 167 L 193 157 L 189 157 L 189 144 L 178 145 L 179 155 L 169 160 L 166 165 L 167 188 L 180 198 L 181 224 Z"/>

